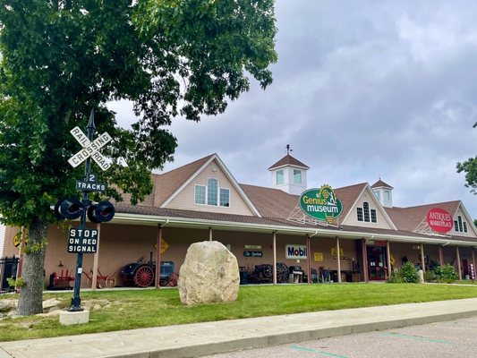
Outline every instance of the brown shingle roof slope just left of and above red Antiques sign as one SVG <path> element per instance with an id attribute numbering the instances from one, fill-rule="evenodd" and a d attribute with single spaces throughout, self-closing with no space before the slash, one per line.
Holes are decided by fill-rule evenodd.
<path id="1" fill-rule="evenodd" d="M 426 219 L 430 209 L 440 208 L 446 210 L 450 215 L 454 215 L 459 203 L 459 200 L 455 200 L 409 208 L 385 208 L 385 210 L 398 230 L 414 231 L 422 220 Z"/>

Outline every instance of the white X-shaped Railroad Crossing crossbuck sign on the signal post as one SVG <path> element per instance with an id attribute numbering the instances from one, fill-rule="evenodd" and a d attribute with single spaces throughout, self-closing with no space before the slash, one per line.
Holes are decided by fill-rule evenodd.
<path id="1" fill-rule="evenodd" d="M 106 158 L 99 153 L 99 149 L 104 147 L 107 142 L 113 139 L 107 132 L 101 134 L 94 141 L 89 141 L 88 137 L 81 131 L 80 127 L 74 127 L 70 132 L 72 133 L 74 139 L 83 147 L 83 149 L 72 156 L 72 158 L 68 159 L 68 163 L 70 163 L 72 167 L 79 166 L 89 157 L 91 157 L 103 170 L 106 170 L 109 166 L 111 166 L 111 164 L 106 161 Z"/>

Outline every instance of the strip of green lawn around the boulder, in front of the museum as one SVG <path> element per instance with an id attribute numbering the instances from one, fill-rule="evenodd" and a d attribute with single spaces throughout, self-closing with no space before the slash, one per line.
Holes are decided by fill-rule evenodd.
<path id="1" fill-rule="evenodd" d="M 11 298 L 2 296 L 1 298 Z M 64 307 L 72 293 L 45 294 L 58 298 Z M 0 320 L 0 341 L 56 337 L 167 326 L 212 320 L 234 320 L 305 311 L 339 310 L 396 303 L 420 303 L 477 297 L 477 286 L 417 284 L 325 284 L 242 286 L 233 303 L 183 306 L 177 289 L 81 292 L 81 300 L 98 300 L 100 310 L 91 311 L 89 324 L 62 326 L 58 317 L 21 317 Z M 106 300 L 109 304 L 106 304 Z"/>

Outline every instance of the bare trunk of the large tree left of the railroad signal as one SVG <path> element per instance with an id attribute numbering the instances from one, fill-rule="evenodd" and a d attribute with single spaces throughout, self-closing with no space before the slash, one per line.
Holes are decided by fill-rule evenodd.
<path id="1" fill-rule="evenodd" d="M 17 313 L 21 316 L 43 313 L 47 230 L 47 221 L 36 219 L 30 224 L 29 241 L 21 275 L 25 286 L 21 287 L 17 309 Z"/>

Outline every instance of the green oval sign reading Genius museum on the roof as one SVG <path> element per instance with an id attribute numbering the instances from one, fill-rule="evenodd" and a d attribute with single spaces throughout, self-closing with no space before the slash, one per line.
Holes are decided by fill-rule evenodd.
<path id="1" fill-rule="evenodd" d="M 330 224 L 343 212 L 341 200 L 336 197 L 335 191 L 329 185 L 302 192 L 299 203 L 305 214 L 318 220 L 328 221 Z"/>

